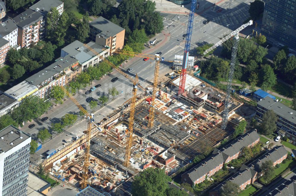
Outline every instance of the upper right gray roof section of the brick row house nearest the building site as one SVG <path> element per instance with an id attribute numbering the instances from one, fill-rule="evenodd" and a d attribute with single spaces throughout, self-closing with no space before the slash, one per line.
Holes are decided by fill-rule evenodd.
<path id="1" fill-rule="evenodd" d="M 222 148 L 220 151 L 229 156 L 233 156 L 239 151 L 241 151 L 244 146 L 249 146 L 251 143 L 253 143 L 259 138 L 260 136 L 255 130 L 249 131 L 244 135 L 240 136 L 238 139 L 236 139 L 229 145 Z"/>

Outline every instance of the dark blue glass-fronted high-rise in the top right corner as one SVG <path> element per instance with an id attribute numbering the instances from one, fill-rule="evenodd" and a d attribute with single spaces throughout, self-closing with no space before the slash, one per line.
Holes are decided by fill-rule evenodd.
<path id="1" fill-rule="evenodd" d="M 295 16 L 295 0 L 266 0 L 261 27 L 263 35 L 295 49 Z"/>

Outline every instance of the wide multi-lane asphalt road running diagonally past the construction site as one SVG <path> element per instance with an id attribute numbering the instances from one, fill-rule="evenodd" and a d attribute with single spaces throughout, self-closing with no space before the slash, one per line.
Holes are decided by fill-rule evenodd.
<path id="1" fill-rule="evenodd" d="M 221 7 L 229 6 L 229 4 L 225 3 L 221 7 L 220 6 L 213 6 L 213 9 L 206 11 L 205 13 L 201 14 L 200 16 L 194 17 L 194 28 L 192 31 L 192 39 L 191 39 L 191 47 L 190 53 L 193 54 L 194 48 L 205 44 L 205 43 L 216 43 L 220 39 L 219 37 L 223 37 L 224 34 L 230 32 L 232 30 L 237 29 L 239 26 L 243 24 L 243 22 L 249 17 L 248 9 L 249 9 L 249 2 L 251 0 L 235 0 L 231 3 L 231 9 L 222 9 L 221 12 L 217 12 Z M 178 14 L 170 14 L 170 13 L 161 13 L 164 19 L 164 30 L 167 30 L 167 33 L 170 33 L 170 39 L 168 42 L 154 51 L 151 54 L 155 54 L 156 52 L 162 52 L 162 56 L 165 59 L 173 60 L 175 55 L 182 55 L 184 53 L 184 43 L 182 35 L 186 33 L 187 30 L 187 22 L 188 17 L 185 15 L 180 15 L 179 22 L 178 21 Z M 202 21 L 205 19 L 210 19 L 210 22 L 207 25 L 202 24 Z M 167 25 L 171 24 L 170 27 L 167 28 Z M 228 25 L 229 24 L 229 25 Z M 172 25 L 175 25 L 173 27 Z M 228 28 L 227 28 L 228 25 Z M 163 37 L 163 35 L 158 35 L 159 37 Z M 136 57 L 135 57 L 136 58 Z M 143 61 L 143 59 L 139 58 L 132 63 L 123 64 L 123 70 L 127 68 L 133 68 L 133 71 L 128 73 L 130 76 L 134 77 L 137 73 L 139 75 L 139 82 L 140 85 L 143 87 L 150 86 L 153 81 L 153 74 L 154 74 L 154 64 L 155 61 L 148 60 Z M 170 66 L 172 63 L 160 63 L 160 75 L 165 73 L 171 72 Z M 115 83 L 111 82 L 113 77 L 118 77 L 119 80 Z M 150 82 L 149 82 L 150 81 Z M 102 86 L 96 89 L 94 92 L 91 92 L 89 95 L 85 95 L 85 91 L 89 90 L 92 86 L 96 84 L 101 84 Z M 123 104 L 127 99 L 131 97 L 132 86 L 131 82 L 129 82 L 124 76 L 120 75 L 118 72 L 113 71 L 110 75 L 103 76 L 100 81 L 93 81 L 89 87 L 86 89 L 80 90 L 81 94 L 76 94 L 75 99 L 78 102 L 86 107 L 86 109 L 91 111 L 89 108 L 89 104 L 86 102 L 87 97 L 93 97 L 94 99 L 98 99 L 103 94 L 107 94 L 108 90 L 111 87 L 115 87 L 118 92 L 120 93 L 119 97 L 113 101 L 112 103 L 108 104 L 107 107 L 102 108 L 94 112 L 94 117 L 96 122 L 99 122 L 104 117 L 106 117 L 109 113 L 115 110 L 119 105 Z M 141 90 L 138 90 L 138 94 L 144 93 Z M 36 127 L 33 129 L 29 129 L 28 125 L 31 123 L 27 122 L 25 126 L 22 128 L 24 132 L 30 134 L 38 133 L 38 130 L 41 128 L 49 128 L 52 122 L 59 122 L 60 118 L 67 113 L 78 113 L 78 108 L 72 103 L 70 99 L 67 99 L 64 104 L 54 106 L 51 110 L 48 111 L 48 114 L 41 116 L 38 119 L 33 120 L 36 124 Z M 41 122 L 41 118 L 44 116 L 48 116 L 49 119 L 46 122 Z M 68 129 L 66 132 L 59 134 L 56 138 L 54 138 L 54 142 L 47 142 L 43 145 L 42 149 L 38 151 L 32 159 L 40 158 L 40 155 L 47 150 L 52 148 L 58 149 L 63 146 L 64 139 L 70 139 L 75 135 L 81 136 L 83 133 L 82 131 L 86 129 L 85 121 L 79 122 L 74 127 Z"/>

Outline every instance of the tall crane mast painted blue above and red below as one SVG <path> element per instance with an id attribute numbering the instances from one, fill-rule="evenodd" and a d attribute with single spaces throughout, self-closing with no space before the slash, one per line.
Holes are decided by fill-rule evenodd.
<path id="1" fill-rule="evenodd" d="M 196 7 L 196 0 L 192 0 L 189 19 L 188 19 L 188 27 L 187 27 L 186 41 L 185 41 L 185 47 L 184 47 L 182 70 L 181 70 L 181 74 L 180 74 L 180 84 L 179 84 L 179 91 L 178 91 L 179 96 L 182 93 L 184 93 L 184 91 L 185 91 L 187 63 L 188 63 L 188 56 L 189 56 L 191 34 L 192 34 L 192 29 L 193 29 L 193 18 L 194 18 L 195 7 Z"/>

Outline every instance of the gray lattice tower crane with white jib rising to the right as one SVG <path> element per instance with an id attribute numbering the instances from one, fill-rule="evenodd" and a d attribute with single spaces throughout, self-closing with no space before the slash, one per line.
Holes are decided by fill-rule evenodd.
<path id="1" fill-rule="evenodd" d="M 240 26 L 237 30 L 231 32 L 229 35 L 224 37 L 222 40 L 220 40 L 218 43 L 213 45 L 211 48 L 205 50 L 203 53 L 204 55 L 210 52 L 211 50 L 217 48 L 219 45 L 221 45 L 223 42 L 226 40 L 230 39 L 231 37 L 234 36 L 234 44 L 232 47 L 232 52 L 231 52 L 231 61 L 230 61 L 230 68 L 229 68 L 229 74 L 228 74 L 228 80 L 227 80 L 227 88 L 226 88 L 226 97 L 225 97 L 225 102 L 224 102 L 224 110 L 222 114 L 222 123 L 221 123 L 221 129 L 225 130 L 227 126 L 227 119 L 228 119 L 228 113 L 229 113 L 229 102 L 230 102 L 230 94 L 231 94 L 231 84 L 232 84 L 232 79 L 233 79 L 233 74 L 234 74 L 234 66 L 235 66 L 235 61 L 237 57 L 237 48 L 238 48 L 238 43 L 239 43 L 239 31 L 243 30 L 247 26 L 250 26 L 253 24 L 253 21 L 250 20 L 246 24 Z"/>

